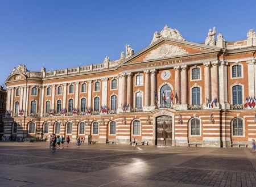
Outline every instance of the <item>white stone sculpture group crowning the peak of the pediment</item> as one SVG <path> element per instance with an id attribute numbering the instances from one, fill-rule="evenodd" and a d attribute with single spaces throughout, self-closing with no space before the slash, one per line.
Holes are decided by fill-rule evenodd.
<path id="1" fill-rule="evenodd" d="M 170 39 L 182 40 L 182 41 L 185 40 L 181 35 L 181 33 L 176 28 L 172 29 L 172 28 L 169 28 L 168 25 L 165 25 L 160 33 L 157 31 L 154 32 L 154 36 L 151 41 L 151 44 L 154 43 L 155 41 L 158 41 L 162 37 L 168 37 Z"/>

